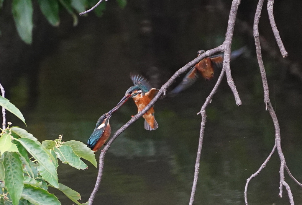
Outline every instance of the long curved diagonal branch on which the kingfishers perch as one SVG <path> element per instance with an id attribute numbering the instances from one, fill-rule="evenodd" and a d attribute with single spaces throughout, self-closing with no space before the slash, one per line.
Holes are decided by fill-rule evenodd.
<path id="1" fill-rule="evenodd" d="M 182 67 L 181 69 L 179 69 L 178 71 L 176 71 L 174 73 L 174 75 L 164 84 L 162 85 L 162 87 L 159 89 L 159 92 L 156 94 L 156 96 L 154 96 L 154 98 L 149 102 L 149 104 L 139 113 L 137 113 L 135 116 L 133 116 L 125 125 L 123 125 L 120 129 L 118 129 L 114 135 L 110 138 L 110 140 L 107 142 L 107 145 L 105 145 L 103 151 L 100 154 L 100 158 L 99 158 L 99 171 L 98 171 L 98 177 L 97 177 L 97 181 L 95 183 L 95 187 L 89 197 L 88 200 L 88 204 L 92 205 L 93 200 L 95 198 L 95 195 L 98 191 L 98 188 L 100 186 L 101 183 L 101 179 L 102 179 L 102 174 L 103 174 L 103 168 L 104 168 L 104 157 L 106 152 L 108 151 L 110 145 L 112 144 L 112 142 L 117 138 L 118 135 L 120 135 L 122 132 L 124 132 L 124 130 L 126 128 L 128 128 L 133 122 L 137 121 L 141 116 L 143 116 L 144 113 L 146 113 L 153 105 L 154 103 L 160 98 L 160 96 L 162 96 L 164 94 L 164 92 L 172 85 L 172 83 L 174 82 L 174 80 L 180 76 L 182 73 L 184 73 L 185 71 L 187 71 L 189 68 L 193 67 L 196 63 L 198 63 L 199 61 L 201 61 L 202 59 L 204 59 L 207 56 L 211 56 L 217 52 L 221 52 L 223 50 L 222 45 L 213 48 L 211 50 L 207 50 L 206 52 L 204 52 L 203 54 L 199 55 L 197 58 L 195 58 L 194 60 L 192 60 L 191 62 L 187 63 L 184 67 Z"/>

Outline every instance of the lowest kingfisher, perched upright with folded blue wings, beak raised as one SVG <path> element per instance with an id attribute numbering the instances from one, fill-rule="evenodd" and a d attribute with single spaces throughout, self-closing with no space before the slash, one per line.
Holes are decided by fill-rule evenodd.
<path id="1" fill-rule="evenodd" d="M 113 113 L 124 103 L 118 104 L 109 112 L 102 115 L 95 125 L 95 129 L 92 132 L 90 138 L 88 139 L 87 146 L 92 149 L 92 151 L 98 151 L 101 146 L 105 144 L 111 134 L 111 127 L 109 125 L 109 119 Z"/>

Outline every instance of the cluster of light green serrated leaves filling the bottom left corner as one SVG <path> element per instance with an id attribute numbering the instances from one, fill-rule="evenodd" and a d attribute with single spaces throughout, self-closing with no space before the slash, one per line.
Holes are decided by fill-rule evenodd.
<path id="1" fill-rule="evenodd" d="M 0 96 L 0 106 L 25 123 L 19 109 L 8 99 Z M 25 129 L 7 127 L 0 134 L 0 205 L 61 204 L 48 187 L 59 189 L 80 205 L 80 194 L 58 182 L 57 168 L 59 159 L 74 168 L 86 169 L 81 158 L 97 166 L 94 152 L 82 142 L 62 142 L 60 135 L 59 139 L 40 143 Z"/>

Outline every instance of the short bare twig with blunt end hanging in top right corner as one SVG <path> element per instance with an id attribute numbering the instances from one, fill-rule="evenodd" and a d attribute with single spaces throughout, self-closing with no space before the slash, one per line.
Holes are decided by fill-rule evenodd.
<path id="1" fill-rule="evenodd" d="M 279 46 L 280 52 L 282 57 L 286 58 L 288 57 L 288 53 L 285 50 L 285 47 L 282 43 L 281 37 L 279 35 L 279 31 L 275 22 L 275 18 L 274 18 L 274 0 L 268 0 L 267 1 L 267 11 L 268 11 L 268 18 L 269 18 L 269 22 L 271 23 L 271 28 L 274 32 L 275 35 L 275 39 L 277 41 L 277 44 Z"/>

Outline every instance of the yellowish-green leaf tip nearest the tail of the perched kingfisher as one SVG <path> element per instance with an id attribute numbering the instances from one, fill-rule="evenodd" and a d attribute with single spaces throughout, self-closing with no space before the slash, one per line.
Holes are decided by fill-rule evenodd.
<path id="1" fill-rule="evenodd" d="M 92 151 L 89 147 L 87 147 L 87 145 L 85 145 L 83 142 L 70 140 L 64 142 L 63 145 L 68 145 L 72 147 L 72 150 L 76 153 L 76 155 L 82 157 L 87 161 L 90 161 L 91 164 L 97 167 L 94 151 Z"/>

